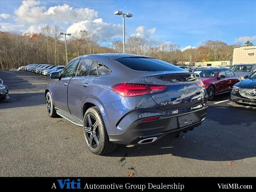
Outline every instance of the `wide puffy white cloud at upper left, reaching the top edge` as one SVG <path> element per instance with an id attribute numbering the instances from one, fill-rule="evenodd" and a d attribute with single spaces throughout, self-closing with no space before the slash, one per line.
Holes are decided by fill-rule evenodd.
<path id="1" fill-rule="evenodd" d="M 82 20 L 93 20 L 98 16 L 98 12 L 89 8 L 73 8 L 68 4 L 63 4 L 52 6 L 46 10 L 46 7 L 40 6 L 40 4 L 40 1 L 22 1 L 20 7 L 14 11 L 16 21 L 37 24 L 52 20 L 68 24 Z"/>

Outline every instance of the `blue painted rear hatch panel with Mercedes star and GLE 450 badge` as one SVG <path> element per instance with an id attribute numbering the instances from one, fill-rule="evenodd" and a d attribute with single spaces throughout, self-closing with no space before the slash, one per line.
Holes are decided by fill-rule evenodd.
<path id="1" fill-rule="evenodd" d="M 164 109 L 191 106 L 201 103 L 204 99 L 202 87 L 196 84 L 200 82 L 198 74 L 157 74 L 146 76 L 145 81 L 146 84 L 166 86 L 164 91 L 151 94 L 153 100 Z"/>

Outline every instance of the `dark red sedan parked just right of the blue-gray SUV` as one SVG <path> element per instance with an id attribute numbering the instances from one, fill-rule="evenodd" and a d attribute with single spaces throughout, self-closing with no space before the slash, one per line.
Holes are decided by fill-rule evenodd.
<path id="1" fill-rule="evenodd" d="M 233 85 L 241 80 L 238 75 L 227 68 L 201 68 L 195 73 L 200 74 L 209 101 L 213 100 L 215 95 L 230 92 Z"/>

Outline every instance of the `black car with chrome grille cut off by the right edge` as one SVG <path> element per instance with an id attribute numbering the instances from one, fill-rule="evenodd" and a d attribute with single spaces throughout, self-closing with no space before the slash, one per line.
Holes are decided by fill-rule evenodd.
<path id="1" fill-rule="evenodd" d="M 233 86 L 230 100 L 236 103 L 256 105 L 256 72 L 250 76 L 244 76 L 244 79 Z"/>

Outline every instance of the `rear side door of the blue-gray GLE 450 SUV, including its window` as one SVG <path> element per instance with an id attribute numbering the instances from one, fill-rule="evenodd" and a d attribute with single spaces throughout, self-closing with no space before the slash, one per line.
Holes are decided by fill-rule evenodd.
<path id="1" fill-rule="evenodd" d="M 96 61 L 82 58 L 79 62 L 76 75 L 68 84 L 68 108 L 77 118 L 82 117 L 82 102 L 87 97 L 90 85 L 97 77 Z"/>

